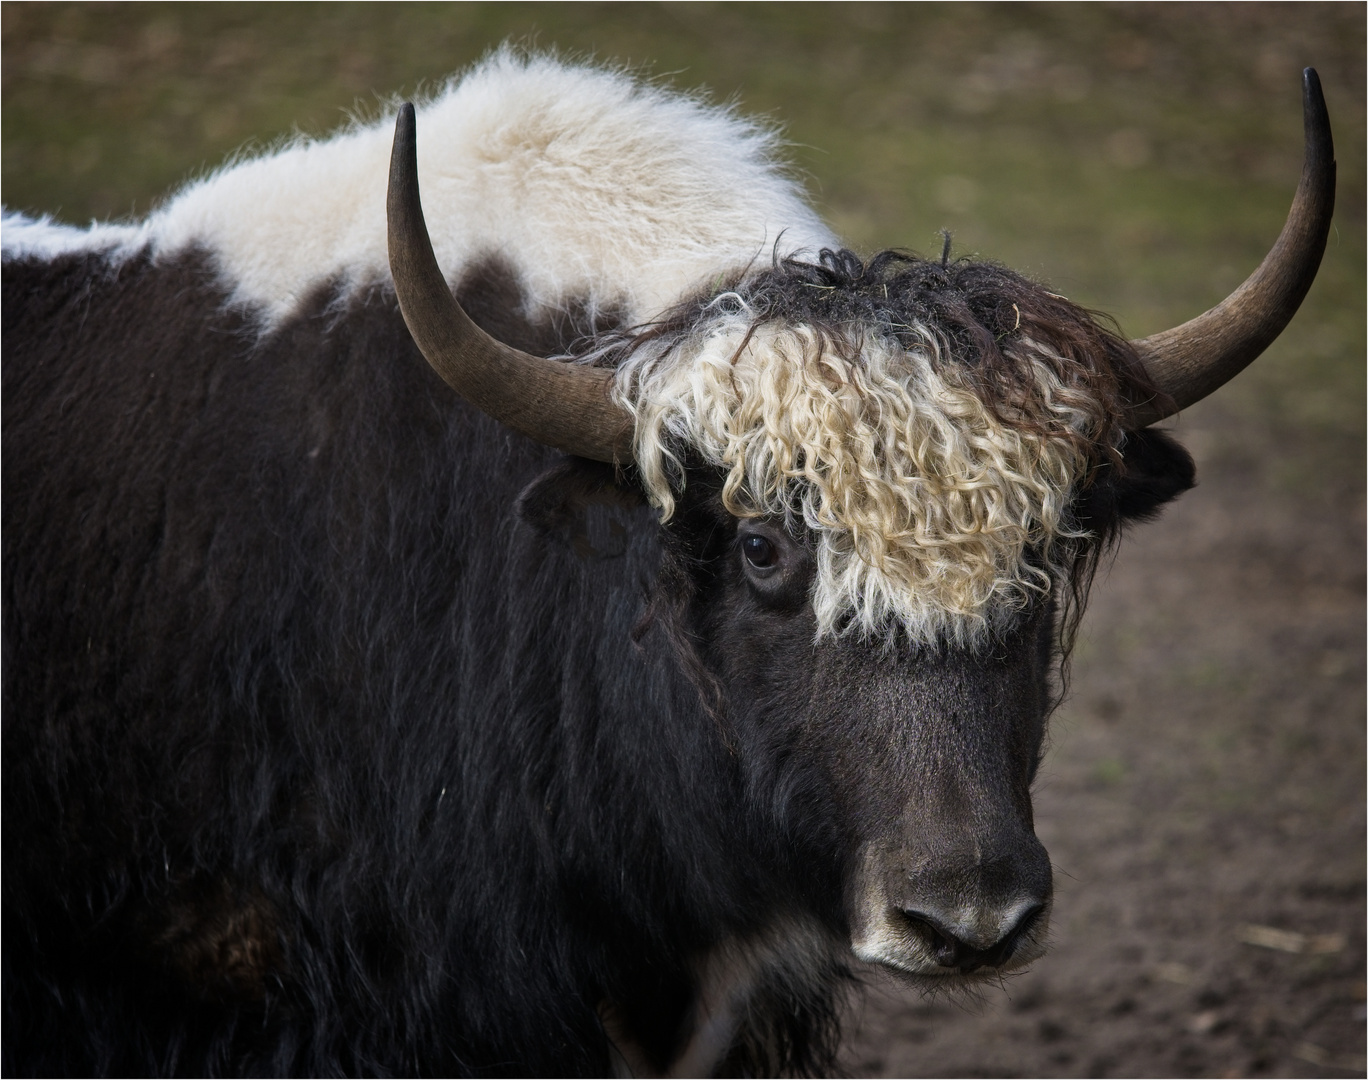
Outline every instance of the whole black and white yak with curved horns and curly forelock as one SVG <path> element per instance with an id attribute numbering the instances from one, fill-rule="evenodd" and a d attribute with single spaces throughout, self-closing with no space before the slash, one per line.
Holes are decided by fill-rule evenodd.
<path id="1" fill-rule="evenodd" d="M 1311 286 L 1304 100 L 1271 253 L 1142 341 L 506 51 L 7 215 L 5 1072 L 819 1073 L 862 965 L 1038 958 L 1059 665 Z"/>

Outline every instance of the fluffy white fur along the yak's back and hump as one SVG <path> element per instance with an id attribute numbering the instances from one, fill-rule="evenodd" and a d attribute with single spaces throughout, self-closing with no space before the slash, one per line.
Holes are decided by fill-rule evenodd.
<path id="1" fill-rule="evenodd" d="M 300 140 L 190 183 L 146 222 L 74 230 L 7 216 L 5 257 L 81 248 L 213 252 L 233 300 L 267 324 L 316 286 L 389 281 L 393 114 Z M 528 315 L 573 298 L 648 319 L 681 296 L 836 238 L 776 164 L 776 138 L 625 74 L 495 52 L 417 112 L 419 178 L 447 278 L 498 256 Z M 82 242 L 83 238 L 83 242 Z"/>

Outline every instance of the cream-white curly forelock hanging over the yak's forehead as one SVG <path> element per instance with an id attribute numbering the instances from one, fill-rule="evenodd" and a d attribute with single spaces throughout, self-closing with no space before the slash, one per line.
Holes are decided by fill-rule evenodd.
<path id="1" fill-rule="evenodd" d="M 1083 535 L 1070 498 L 1094 408 L 1044 346 L 1023 339 L 1015 359 L 1048 416 L 1014 426 L 925 326 L 899 327 L 904 344 L 858 331 L 837 342 L 757 323 L 737 296 L 711 309 L 688 335 L 636 349 L 616 379 L 665 520 L 684 448 L 724 471 L 728 512 L 800 520 L 815 538 L 818 638 L 977 646 L 1059 580 L 1060 542 Z"/>

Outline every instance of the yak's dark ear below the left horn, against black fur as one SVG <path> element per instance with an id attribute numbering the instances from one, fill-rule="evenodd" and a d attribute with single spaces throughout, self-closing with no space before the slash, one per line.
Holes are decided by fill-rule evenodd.
<path id="1" fill-rule="evenodd" d="M 617 558 L 640 530 L 646 505 L 621 468 L 566 457 L 523 489 L 517 516 L 583 560 Z"/>

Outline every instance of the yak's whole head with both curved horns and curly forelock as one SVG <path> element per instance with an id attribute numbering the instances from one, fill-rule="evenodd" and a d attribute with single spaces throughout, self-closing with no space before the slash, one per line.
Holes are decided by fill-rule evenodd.
<path id="1" fill-rule="evenodd" d="M 796 887 L 860 958 L 941 981 L 1042 951 L 1030 786 L 1059 658 L 1099 553 L 1192 485 L 1149 426 L 1253 360 L 1311 286 L 1334 155 L 1313 73 L 1304 90 L 1282 237 L 1174 330 L 1126 341 L 988 263 L 822 252 L 739 272 L 588 363 L 461 311 L 401 111 L 390 263 L 415 339 L 472 404 L 614 464 L 658 508 L 654 615 Z"/>

